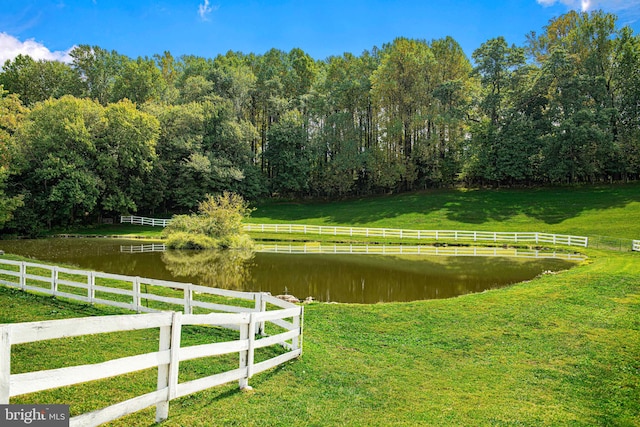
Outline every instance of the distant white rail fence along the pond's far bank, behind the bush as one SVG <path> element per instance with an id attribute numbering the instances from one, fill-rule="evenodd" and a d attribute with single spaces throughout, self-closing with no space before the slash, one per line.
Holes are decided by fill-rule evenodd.
<path id="1" fill-rule="evenodd" d="M 123 216 L 121 223 L 144 224 L 166 226 L 170 220 L 158 220 L 153 218 Z M 416 240 L 446 240 L 446 241 L 473 241 L 473 242 L 508 242 L 508 243 L 535 243 L 566 246 L 587 247 L 589 239 L 584 236 L 571 236 L 564 234 L 549 234 L 536 232 L 495 232 L 495 231 L 464 231 L 464 230 L 403 230 L 396 228 L 363 228 L 340 227 L 304 224 L 245 224 L 244 230 L 260 233 L 295 233 L 317 234 L 332 236 L 361 236 L 382 237 Z"/>

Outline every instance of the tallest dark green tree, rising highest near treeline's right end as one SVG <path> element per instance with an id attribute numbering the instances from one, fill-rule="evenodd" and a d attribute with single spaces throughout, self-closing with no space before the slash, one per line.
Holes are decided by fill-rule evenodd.
<path id="1" fill-rule="evenodd" d="M 529 36 L 529 49 L 549 82 L 547 120 L 554 125 L 546 137 L 545 169 L 552 181 L 593 181 L 624 169 L 616 160 L 616 82 L 622 77 L 616 74 L 622 68 L 615 22 L 602 11 L 570 12 Z M 552 160 L 556 155 L 562 156 L 558 162 Z"/>

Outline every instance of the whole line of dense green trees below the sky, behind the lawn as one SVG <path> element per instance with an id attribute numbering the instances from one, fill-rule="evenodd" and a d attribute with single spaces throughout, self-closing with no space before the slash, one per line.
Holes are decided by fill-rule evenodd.
<path id="1" fill-rule="evenodd" d="M 472 60 L 452 38 L 131 59 L 78 46 L 0 73 L 0 228 L 190 211 L 206 194 L 344 197 L 640 177 L 640 37 L 570 12 Z"/>

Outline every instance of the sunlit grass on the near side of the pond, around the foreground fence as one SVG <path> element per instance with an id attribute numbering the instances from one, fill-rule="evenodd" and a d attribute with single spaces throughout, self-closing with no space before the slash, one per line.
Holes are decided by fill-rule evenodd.
<path id="1" fill-rule="evenodd" d="M 637 254 L 590 255 L 570 271 L 451 300 L 309 305 L 300 360 L 254 377 L 251 393 L 229 385 L 178 399 L 163 425 L 638 425 L 640 263 Z M 2 322 L 113 312 L 6 289 L 0 301 Z M 154 335 L 110 339 L 53 348 L 88 363 L 107 349 L 157 345 Z M 13 364 L 27 360 L 42 359 L 28 348 Z M 88 410 L 149 391 L 153 379 L 31 399 Z M 151 425 L 152 412 L 114 425 Z"/>

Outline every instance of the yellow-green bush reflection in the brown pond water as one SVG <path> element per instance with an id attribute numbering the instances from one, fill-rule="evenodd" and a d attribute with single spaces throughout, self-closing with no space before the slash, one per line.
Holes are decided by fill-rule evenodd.
<path id="1" fill-rule="evenodd" d="M 254 264 L 252 250 L 170 250 L 162 261 L 176 277 L 197 277 L 198 284 L 229 290 L 244 290 Z"/>

